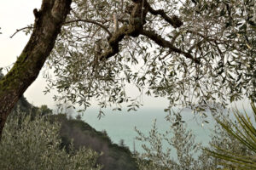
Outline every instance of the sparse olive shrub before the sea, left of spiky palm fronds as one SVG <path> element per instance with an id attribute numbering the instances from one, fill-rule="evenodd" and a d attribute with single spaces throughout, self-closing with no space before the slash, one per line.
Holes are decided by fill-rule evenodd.
<path id="1" fill-rule="evenodd" d="M 144 150 L 137 157 L 140 170 L 200 169 L 203 162 L 196 159 L 195 154 L 201 149 L 201 144 L 195 142 L 195 135 L 187 130 L 185 124 L 170 126 L 166 133 L 160 133 L 154 121 L 148 136 L 139 130 L 137 133 L 137 139 L 143 142 Z M 173 157 L 175 151 L 176 158 Z"/>

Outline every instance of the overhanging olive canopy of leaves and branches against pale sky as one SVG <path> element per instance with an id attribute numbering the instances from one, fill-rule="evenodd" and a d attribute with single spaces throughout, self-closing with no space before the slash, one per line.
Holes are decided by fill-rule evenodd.
<path id="1" fill-rule="evenodd" d="M 203 112 L 255 99 L 253 0 L 73 0 L 46 68 L 55 99 L 129 110 L 142 94 Z M 118 26 L 113 20 L 118 20 Z M 131 98 L 125 85 L 139 94 Z M 214 110 L 214 108 L 212 108 Z M 204 116 L 204 114 L 202 114 Z"/>

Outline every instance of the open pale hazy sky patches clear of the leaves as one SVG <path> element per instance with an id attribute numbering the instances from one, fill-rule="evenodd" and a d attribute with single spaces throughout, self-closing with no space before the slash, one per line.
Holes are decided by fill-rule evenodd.
<path id="1" fill-rule="evenodd" d="M 0 35 L 0 67 L 12 65 L 17 56 L 20 55 L 22 49 L 30 36 L 26 36 L 24 32 L 19 32 L 15 37 L 10 36 L 15 33 L 16 29 L 23 28 L 33 23 L 34 16 L 32 10 L 40 8 L 42 0 L 1 0 L 0 1 L 0 27 L 3 34 Z M 45 80 L 42 74 L 32 85 L 26 90 L 25 97 L 33 105 L 49 105 L 55 106 L 52 99 L 53 94 L 44 95 Z M 143 98 L 145 107 L 166 108 L 168 101 L 166 99 L 154 99 L 149 97 Z"/>

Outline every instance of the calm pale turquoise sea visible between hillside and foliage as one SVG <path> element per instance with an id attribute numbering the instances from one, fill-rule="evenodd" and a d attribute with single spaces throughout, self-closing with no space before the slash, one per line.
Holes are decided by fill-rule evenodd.
<path id="1" fill-rule="evenodd" d="M 148 135 L 153 120 L 157 120 L 157 127 L 159 132 L 164 133 L 170 128 L 170 122 L 165 119 L 166 112 L 163 109 L 149 109 L 141 108 L 139 111 L 104 111 L 106 114 L 100 120 L 97 118 L 98 111 L 89 109 L 82 116 L 82 120 L 90 124 L 91 127 L 96 128 L 97 131 L 106 130 L 108 136 L 111 138 L 113 143 L 119 144 L 121 139 L 125 140 L 125 145 L 134 150 L 135 148 L 139 152 L 143 152 L 139 141 L 135 140 L 137 132 L 134 130 L 137 127 L 138 130 Z M 187 122 L 188 129 L 191 129 L 195 134 L 196 142 L 201 142 L 204 145 L 210 140 L 210 127 L 213 127 L 211 119 L 207 119 L 210 122 L 209 125 L 202 127 L 201 122 L 193 118 L 191 111 L 183 112 L 183 120 Z M 211 117 L 209 115 L 209 117 Z"/>

